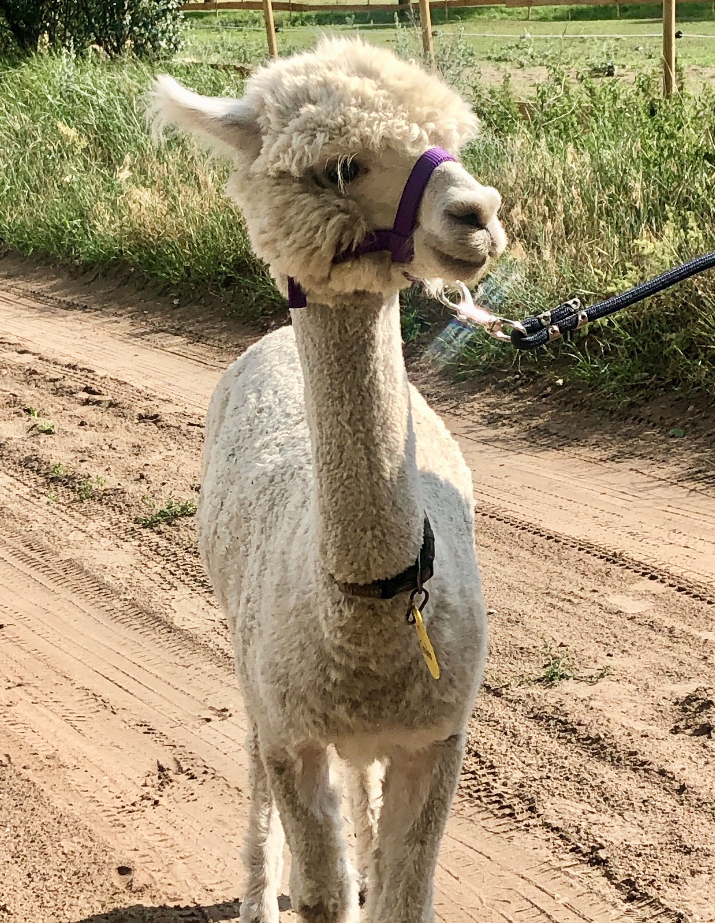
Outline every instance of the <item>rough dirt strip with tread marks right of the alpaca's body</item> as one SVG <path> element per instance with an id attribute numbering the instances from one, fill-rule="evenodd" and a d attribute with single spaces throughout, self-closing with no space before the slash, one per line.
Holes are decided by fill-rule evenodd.
<path id="1" fill-rule="evenodd" d="M 598 558 L 489 522 L 480 531 L 481 557 L 496 609 L 465 793 L 498 811 L 507 827 L 551 833 L 629 902 L 712 919 L 711 712 L 685 726 L 679 717 L 679 703 L 695 699 L 707 709 L 712 698 L 712 632 L 700 630 L 712 626 L 708 609 L 660 583 L 623 581 Z M 529 569 L 536 556 L 541 567 Z M 499 576 L 509 583 L 490 593 Z M 607 598 L 614 583 L 618 605 Z M 603 665 L 610 672 L 593 685 L 550 682 L 534 652 L 542 632 L 553 651 L 563 641 L 573 652 L 575 674 L 588 677 Z"/>

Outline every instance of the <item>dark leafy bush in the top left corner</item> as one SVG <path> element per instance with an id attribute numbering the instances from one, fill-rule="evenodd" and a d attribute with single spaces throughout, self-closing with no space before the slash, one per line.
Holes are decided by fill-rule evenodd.
<path id="1" fill-rule="evenodd" d="M 0 25 L 24 54 L 42 42 L 107 54 L 173 54 L 181 44 L 181 0 L 0 0 Z"/>

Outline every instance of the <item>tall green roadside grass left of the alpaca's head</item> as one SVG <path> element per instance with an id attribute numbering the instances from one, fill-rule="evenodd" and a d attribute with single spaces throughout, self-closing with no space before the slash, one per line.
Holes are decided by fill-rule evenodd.
<path id="1" fill-rule="evenodd" d="M 242 91 L 229 72 L 161 69 L 209 94 Z M 183 291 L 210 289 L 255 318 L 280 300 L 223 195 L 229 165 L 188 139 L 152 142 L 143 116 L 150 77 L 133 60 L 0 64 L 0 241 Z"/>

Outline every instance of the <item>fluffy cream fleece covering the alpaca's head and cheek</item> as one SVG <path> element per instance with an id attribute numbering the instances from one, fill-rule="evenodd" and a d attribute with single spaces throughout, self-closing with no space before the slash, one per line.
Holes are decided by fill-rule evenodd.
<path id="1" fill-rule="evenodd" d="M 268 263 L 281 290 L 285 293 L 287 276 L 300 268 L 304 289 L 324 299 L 350 294 L 356 284 L 375 294 L 404 286 L 402 271 L 386 255 L 361 260 L 359 270 L 333 266 L 332 258 L 371 227 L 392 223 L 399 191 L 423 150 L 438 146 L 456 154 L 477 132 L 470 107 L 441 79 L 385 49 L 349 40 L 322 42 L 312 54 L 262 67 L 241 100 L 232 106 L 213 102 L 207 114 L 195 96 L 171 78 L 160 78 L 160 124 L 186 126 L 193 110 L 197 119 L 191 127 L 218 136 L 237 155 L 239 169 L 228 192 L 249 222 L 256 255 Z M 243 138 L 236 151 L 238 132 Z M 372 203 L 383 206 L 375 215 L 383 219 L 378 224 L 365 203 L 340 190 L 316 190 L 310 182 L 331 160 L 358 153 L 366 169 L 385 169 L 390 151 L 408 162 L 388 164 L 389 195 Z"/>

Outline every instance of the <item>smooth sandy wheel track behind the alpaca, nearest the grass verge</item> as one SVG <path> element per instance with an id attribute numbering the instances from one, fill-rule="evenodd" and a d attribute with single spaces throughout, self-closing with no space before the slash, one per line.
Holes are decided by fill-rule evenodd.
<path id="1" fill-rule="evenodd" d="M 207 361 L 205 349 L 200 350 L 188 341 L 170 351 L 162 348 L 161 344 L 147 346 L 127 322 L 98 320 L 94 314 L 88 316 L 86 306 L 83 306 L 85 311 L 81 318 L 75 318 L 82 322 L 81 332 L 62 330 L 57 320 L 67 311 L 66 300 L 33 293 L 33 297 L 40 295 L 42 304 L 49 308 L 38 318 L 37 305 L 34 309 L 31 307 L 27 293 L 20 286 L 9 283 L 8 288 L 8 283 L 4 281 L 2 289 L 18 293 L 18 299 L 8 301 L 0 290 L 0 323 L 3 330 L 18 338 L 18 342 L 27 343 L 32 337 L 50 340 L 53 352 L 69 355 L 70 363 L 76 361 L 77 354 L 93 356 L 107 370 L 110 378 L 122 374 L 126 382 L 134 383 L 135 387 L 140 384 L 141 390 L 150 384 L 151 390 L 158 390 L 164 399 L 171 397 L 177 405 L 183 402 L 194 413 L 203 415 L 222 368 L 219 363 Z M 26 306 L 29 301 L 30 305 Z M 173 339 L 178 341 L 180 338 Z M 121 345 L 125 346 L 124 351 L 117 348 Z M 133 356 L 127 355 L 130 351 Z M 45 349 L 42 354 L 47 352 Z M 173 366 L 171 357 L 180 360 L 181 372 L 179 364 Z M 139 360 L 137 364 L 132 363 L 132 358 Z M 186 380 L 196 386 L 190 399 L 184 387 Z M 665 471 L 660 477 L 652 471 L 641 473 L 633 466 L 624 469 L 623 465 L 609 465 L 573 450 L 554 453 L 552 465 L 547 450 L 515 450 L 515 440 L 509 434 L 478 426 L 461 415 L 447 412 L 443 416 L 447 427 L 458 439 L 465 459 L 471 464 L 478 511 L 482 508 L 488 510 L 490 516 L 493 513 L 510 516 L 513 524 L 525 523 L 529 528 L 541 528 L 547 539 L 561 535 L 565 540 L 567 535 L 570 541 L 578 539 L 578 545 L 587 553 L 621 557 L 624 564 L 630 559 L 634 569 L 648 570 L 659 580 L 662 577 L 676 585 L 689 583 L 695 587 L 693 593 L 708 600 L 715 596 L 712 581 L 715 574 L 715 497 L 712 495 L 700 489 L 693 491 L 690 486 L 673 481 Z M 565 456 L 568 459 L 566 470 L 563 468 Z M 507 472 L 499 470 L 506 468 L 507 464 Z M 583 471 L 578 470 L 578 465 Z M 657 495 L 653 493 L 653 482 L 657 484 Z M 580 495 L 578 491 L 581 491 Z M 698 496 L 692 497 L 693 493 Z M 499 503 L 495 503 L 497 496 Z M 606 499 L 600 501 L 599 497 Z M 571 511 L 570 506 L 574 507 Z M 661 508 L 664 509 L 662 515 Z M 527 510 L 529 515 L 523 516 Z M 649 534 L 649 523 L 644 521 L 643 510 L 653 516 L 661 515 L 650 529 L 652 534 Z M 587 537 L 584 516 L 589 512 L 590 531 L 593 532 L 594 523 L 602 521 L 603 525 L 598 526 L 597 532 L 604 536 L 608 534 L 611 541 L 594 541 L 590 535 Z M 542 521 L 544 516 L 549 519 L 548 525 Z M 555 522 L 561 522 L 568 528 L 554 530 Z M 623 546 L 613 543 L 614 535 L 623 541 Z M 686 560 L 682 561 L 685 567 L 680 570 L 682 576 L 675 576 L 663 559 L 652 557 L 648 563 L 640 563 L 640 555 L 629 554 L 629 548 L 642 547 L 644 543 L 651 553 L 660 551 L 661 554 L 672 545 L 675 553 L 665 557 L 675 560 L 680 560 L 686 553 Z M 698 580 L 697 575 L 708 579 Z"/>

